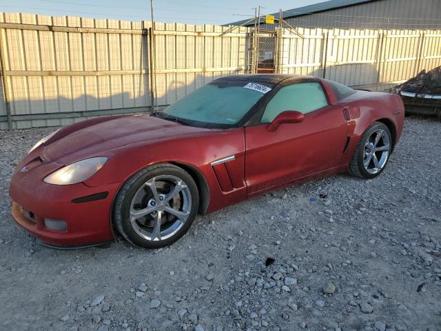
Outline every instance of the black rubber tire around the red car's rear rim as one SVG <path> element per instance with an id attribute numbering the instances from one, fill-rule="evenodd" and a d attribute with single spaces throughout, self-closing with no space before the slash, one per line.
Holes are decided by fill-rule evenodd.
<path id="1" fill-rule="evenodd" d="M 378 172 L 373 174 L 365 169 L 365 165 L 363 164 L 363 161 L 365 158 L 365 144 L 367 143 L 367 139 L 369 139 L 369 137 L 371 137 L 373 132 L 376 132 L 377 130 L 384 130 L 384 132 L 387 134 L 387 137 L 389 138 L 390 148 L 386 162 Z M 393 141 L 389 128 L 387 128 L 387 126 L 385 126 L 381 122 L 373 122 L 371 126 L 369 126 L 369 128 L 367 128 L 367 130 L 362 134 L 360 141 L 358 141 L 358 145 L 356 147 L 355 152 L 353 153 L 351 163 L 349 164 L 349 173 L 355 177 L 365 178 L 365 179 L 373 179 L 377 177 L 384 171 L 384 168 L 386 168 L 392 150 L 393 150 Z"/>

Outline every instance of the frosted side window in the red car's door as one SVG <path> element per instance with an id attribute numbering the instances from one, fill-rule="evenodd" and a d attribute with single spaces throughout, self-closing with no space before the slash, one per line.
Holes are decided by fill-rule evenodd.
<path id="1" fill-rule="evenodd" d="M 270 123 L 286 110 L 296 110 L 307 114 L 328 106 L 322 86 L 318 82 L 296 83 L 281 88 L 267 103 L 260 123 Z"/>

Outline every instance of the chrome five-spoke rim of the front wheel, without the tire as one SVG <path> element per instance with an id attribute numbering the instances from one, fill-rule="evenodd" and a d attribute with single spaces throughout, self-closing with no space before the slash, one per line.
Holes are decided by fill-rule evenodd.
<path id="1" fill-rule="evenodd" d="M 156 176 L 134 194 L 130 223 L 143 239 L 161 241 L 181 230 L 191 210 L 192 194 L 182 179 Z"/>

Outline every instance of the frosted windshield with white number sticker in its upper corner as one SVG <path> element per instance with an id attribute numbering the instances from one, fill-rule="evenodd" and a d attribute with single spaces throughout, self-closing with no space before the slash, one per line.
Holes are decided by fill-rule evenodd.
<path id="1" fill-rule="evenodd" d="M 232 128 L 271 88 L 248 81 L 212 81 L 165 108 L 161 117 L 192 126 Z"/>

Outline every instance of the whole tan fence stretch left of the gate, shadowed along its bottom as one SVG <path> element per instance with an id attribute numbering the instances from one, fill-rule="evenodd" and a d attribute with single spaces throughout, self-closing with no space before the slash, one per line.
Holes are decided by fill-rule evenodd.
<path id="1" fill-rule="evenodd" d="M 150 22 L 0 13 L 12 128 L 150 111 Z M 216 77 L 244 73 L 247 28 L 155 25 L 156 99 L 168 105 Z M 0 128 L 8 127 L 0 103 Z"/>

